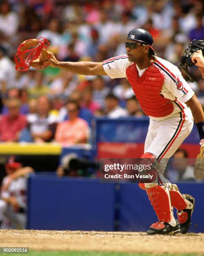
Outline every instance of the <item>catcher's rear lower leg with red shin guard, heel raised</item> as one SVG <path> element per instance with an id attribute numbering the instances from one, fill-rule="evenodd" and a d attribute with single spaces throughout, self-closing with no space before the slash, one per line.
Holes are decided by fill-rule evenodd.
<path id="1" fill-rule="evenodd" d="M 186 234 L 191 225 L 191 216 L 195 206 L 195 199 L 191 195 L 182 195 L 176 184 L 167 184 L 172 206 L 177 209 L 177 217 L 182 234 Z"/>

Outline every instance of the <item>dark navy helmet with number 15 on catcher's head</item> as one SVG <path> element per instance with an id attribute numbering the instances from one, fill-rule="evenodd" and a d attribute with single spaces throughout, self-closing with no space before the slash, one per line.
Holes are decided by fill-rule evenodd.
<path id="1" fill-rule="evenodd" d="M 152 47 L 154 39 L 153 39 L 152 35 L 147 30 L 144 30 L 142 28 L 133 28 L 127 35 L 126 39 L 135 40 L 142 44 L 149 45 L 150 54 L 156 55 L 156 53 Z"/>

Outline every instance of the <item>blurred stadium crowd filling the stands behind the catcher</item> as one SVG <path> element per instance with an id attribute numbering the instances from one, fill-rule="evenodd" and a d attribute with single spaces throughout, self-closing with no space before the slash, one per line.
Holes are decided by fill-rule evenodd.
<path id="1" fill-rule="evenodd" d="M 1 0 L 0 141 L 87 143 L 96 116 L 144 115 L 127 79 L 50 67 L 17 72 L 22 41 L 43 36 L 59 60 L 103 61 L 126 54 L 127 33 L 144 28 L 157 55 L 178 66 L 189 42 L 204 40 L 203 13 L 202 0 Z M 204 106 L 201 74 L 197 67 L 190 72 Z"/>

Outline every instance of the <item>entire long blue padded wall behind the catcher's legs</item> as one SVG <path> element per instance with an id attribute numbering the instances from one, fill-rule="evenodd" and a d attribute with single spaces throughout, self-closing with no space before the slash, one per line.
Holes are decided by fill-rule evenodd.
<path id="1" fill-rule="evenodd" d="M 179 188 L 196 199 L 190 231 L 204 232 L 204 184 L 183 183 Z M 156 221 L 138 184 L 36 174 L 28 180 L 28 229 L 146 231 Z"/>

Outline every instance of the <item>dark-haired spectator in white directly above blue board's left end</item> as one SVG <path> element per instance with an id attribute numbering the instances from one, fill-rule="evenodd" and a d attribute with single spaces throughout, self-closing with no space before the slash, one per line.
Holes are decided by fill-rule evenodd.
<path id="1" fill-rule="evenodd" d="M 109 93 L 105 98 L 105 113 L 109 118 L 126 117 L 128 115 L 127 110 L 119 106 L 119 100 L 113 93 Z"/>

